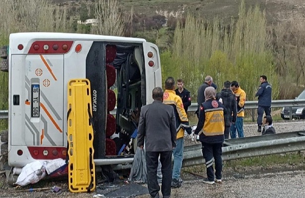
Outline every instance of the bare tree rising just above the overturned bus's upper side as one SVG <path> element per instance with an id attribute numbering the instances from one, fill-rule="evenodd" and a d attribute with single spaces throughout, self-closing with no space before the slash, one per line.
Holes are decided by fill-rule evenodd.
<path id="1" fill-rule="evenodd" d="M 93 34 L 123 36 L 124 21 L 117 0 L 95 0 L 95 17 Z"/>

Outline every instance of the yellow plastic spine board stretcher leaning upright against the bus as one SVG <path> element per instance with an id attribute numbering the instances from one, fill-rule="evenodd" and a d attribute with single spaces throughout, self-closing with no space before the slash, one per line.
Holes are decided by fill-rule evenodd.
<path id="1" fill-rule="evenodd" d="M 93 128 L 91 126 L 91 90 L 88 79 L 68 82 L 68 174 L 69 190 L 73 193 L 95 190 L 93 161 Z"/>

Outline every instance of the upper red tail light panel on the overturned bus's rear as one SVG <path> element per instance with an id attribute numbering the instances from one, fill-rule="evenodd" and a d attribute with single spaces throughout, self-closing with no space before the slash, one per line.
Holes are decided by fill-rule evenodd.
<path id="1" fill-rule="evenodd" d="M 29 54 L 67 53 L 73 41 L 35 41 L 29 49 Z"/>

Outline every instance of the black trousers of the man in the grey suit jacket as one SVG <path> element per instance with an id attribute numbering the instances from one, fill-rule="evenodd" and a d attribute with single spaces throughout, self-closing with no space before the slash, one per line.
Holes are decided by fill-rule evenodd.
<path id="1" fill-rule="evenodd" d="M 159 194 L 160 186 L 157 179 L 158 158 L 160 156 L 163 197 L 171 195 L 172 185 L 172 150 L 170 151 L 146 151 L 147 188 L 151 197 Z"/>

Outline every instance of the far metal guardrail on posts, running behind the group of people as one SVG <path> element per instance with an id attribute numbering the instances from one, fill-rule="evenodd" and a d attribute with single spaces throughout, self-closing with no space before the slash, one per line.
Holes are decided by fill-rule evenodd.
<path id="1" fill-rule="evenodd" d="M 252 109 L 252 121 L 254 122 L 254 109 L 258 107 L 258 101 L 245 101 L 244 108 Z M 280 99 L 280 100 L 272 100 L 271 108 L 280 108 L 280 107 L 290 107 L 290 119 L 291 117 L 291 107 L 294 106 L 305 106 L 305 99 Z M 197 110 L 197 103 L 191 103 L 188 107 L 189 112 L 195 112 Z M 117 112 L 117 107 L 114 110 L 110 111 L 112 115 L 115 115 Z M 0 119 L 8 118 L 8 110 L 0 110 Z"/>

